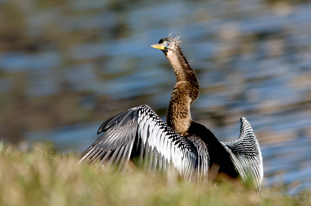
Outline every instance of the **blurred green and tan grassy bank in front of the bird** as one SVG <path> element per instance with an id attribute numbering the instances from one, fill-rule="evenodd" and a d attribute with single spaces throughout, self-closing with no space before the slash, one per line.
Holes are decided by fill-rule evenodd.
<path id="1" fill-rule="evenodd" d="M 150 175 L 129 165 L 77 164 L 78 155 L 56 155 L 47 146 L 27 152 L 0 145 L 0 205 L 311 205 L 311 192 L 286 196 L 281 189 L 256 189 L 240 181 L 195 184 Z"/>

